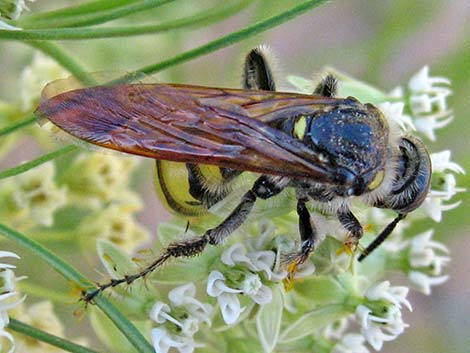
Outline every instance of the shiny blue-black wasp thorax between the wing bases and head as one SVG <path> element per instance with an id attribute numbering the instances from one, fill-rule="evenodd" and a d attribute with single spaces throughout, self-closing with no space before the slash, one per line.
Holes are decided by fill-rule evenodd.
<path id="1" fill-rule="evenodd" d="M 389 128 L 375 107 L 346 99 L 314 114 L 307 135 L 309 146 L 338 173 L 342 196 L 362 195 L 382 183 Z"/>

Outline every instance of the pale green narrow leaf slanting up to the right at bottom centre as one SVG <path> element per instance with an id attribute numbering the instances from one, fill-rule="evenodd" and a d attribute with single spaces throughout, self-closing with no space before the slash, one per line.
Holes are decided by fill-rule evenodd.
<path id="1" fill-rule="evenodd" d="M 280 343 L 292 342 L 317 333 L 329 324 L 349 315 L 343 304 L 327 305 L 305 314 L 288 326 L 279 338 Z"/>

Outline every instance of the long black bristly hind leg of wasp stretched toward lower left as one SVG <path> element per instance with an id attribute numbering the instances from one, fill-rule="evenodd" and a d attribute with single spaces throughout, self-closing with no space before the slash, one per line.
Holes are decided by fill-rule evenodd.
<path id="1" fill-rule="evenodd" d="M 232 213 L 217 227 L 209 229 L 199 237 L 171 243 L 160 257 L 142 271 L 133 275 L 124 276 L 120 279 L 112 279 L 107 283 L 97 284 L 95 290 L 91 292 L 84 291 L 82 293 L 82 300 L 86 303 L 90 303 L 99 293 L 108 288 L 116 287 L 123 283 L 131 284 L 139 278 L 144 278 L 170 258 L 192 257 L 203 252 L 207 244 L 217 245 L 221 243 L 245 222 L 258 197 L 268 199 L 281 192 L 282 189 L 282 185 L 276 184 L 266 176 L 261 176 L 256 180 L 251 190 L 243 195 L 242 200 Z"/>

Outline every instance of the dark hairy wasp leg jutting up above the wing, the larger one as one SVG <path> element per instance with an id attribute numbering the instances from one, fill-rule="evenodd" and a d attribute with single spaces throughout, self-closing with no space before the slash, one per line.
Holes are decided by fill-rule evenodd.
<path id="1" fill-rule="evenodd" d="M 243 66 L 243 88 L 275 91 L 273 71 L 269 65 L 270 53 L 265 47 L 252 49 Z"/>

